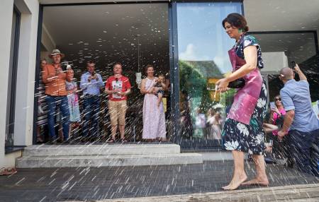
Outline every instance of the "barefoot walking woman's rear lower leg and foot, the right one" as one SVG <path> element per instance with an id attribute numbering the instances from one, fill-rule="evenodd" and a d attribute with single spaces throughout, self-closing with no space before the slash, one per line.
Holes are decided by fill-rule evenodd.
<path id="1" fill-rule="evenodd" d="M 256 166 L 257 176 L 255 179 L 242 183 L 242 185 L 262 185 L 268 186 L 269 181 L 266 174 L 264 155 L 252 155 Z"/>

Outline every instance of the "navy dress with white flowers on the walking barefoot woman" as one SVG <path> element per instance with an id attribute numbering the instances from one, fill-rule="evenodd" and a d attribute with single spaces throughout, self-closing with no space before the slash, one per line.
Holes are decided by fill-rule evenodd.
<path id="1" fill-rule="evenodd" d="M 235 49 L 237 57 L 240 59 L 245 59 L 244 49 L 248 46 L 257 47 L 257 68 L 262 69 L 264 67 L 262 61 L 262 52 L 257 40 L 254 37 L 251 35 L 242 35 L 239 42 L 235 47 L 233 47 L 233 49 Z M 244 88 L 246 89 L 250 87 L 254 88 L 254 86 L 250 86 L 254 85 L 252 82 L 250 82 L 250 78 L 250 76 L 245 76 L 246 85 Z M 247 102 L 245 103 L 245 100 L 240 99 L 237 100 L 239 102 L 234 101 L 232 105 L 233 109 L 241 108 L 240 110 L 245 110 L 248 107 L 254 108 L 252 108 L 253 111 L 248 119 L 249 121 L 246 122 L 240 121 L 240 119 L 242 119 L 242 114 L 240 113 L 235 114 L 235 116 L 230 116 L 230 114 L 228 114 L 228 119 L 225 121 L 222 133 L 223 148 L 225 148 L 225 150 L 239 150 L 251 155 L 262 155 L 264 153 L 266 146 L 264 145 L 265 133 L 264 129 L 262 128 L 262 124 L 264 117 L 267 114 L 267 88 L 264 79 L 260 79 L 262 79 L 262 86 L 259 96 L 257 95 L 255 97 L 257 102 L 254 106 L 248 106 Z M 242 94 L 244 88 L 238 89 L 236 95 Z M 236 116 L 238 119 L 234 119 Z"/>

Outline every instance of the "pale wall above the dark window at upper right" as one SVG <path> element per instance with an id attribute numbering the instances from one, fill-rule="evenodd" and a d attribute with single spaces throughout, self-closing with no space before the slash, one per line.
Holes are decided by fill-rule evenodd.
<path id="1" fill-rule="evenodd" d="M 243 4 L 250 31 L 315 30 L 319 49 L 318 0 L 244 0 Z"/>

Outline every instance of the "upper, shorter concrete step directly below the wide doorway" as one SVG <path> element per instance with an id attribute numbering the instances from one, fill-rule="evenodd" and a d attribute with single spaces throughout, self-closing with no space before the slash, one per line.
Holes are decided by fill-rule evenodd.
<path id="1" fill-rule="evenodd" d="M 32 145 L 23 156 L 83 156 L 83 155 L 151 155 L 178 154 L 176 144 L 102 144 L 102 145 Z"/>

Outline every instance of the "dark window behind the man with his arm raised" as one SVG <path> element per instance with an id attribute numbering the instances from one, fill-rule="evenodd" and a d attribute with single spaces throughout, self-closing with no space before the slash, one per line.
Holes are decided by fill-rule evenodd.
<path id="1" fill-rule="evenodd" d="M 257 32 L 252 33 L 262 47 L 262 69 L 267 78 L 270 101 L 279 95 L 284 86 L 279 80 L 279 71 L 284 66 L 292 67 L 295 62 L 306 73 L 313 101 L 318 100 L 318 64 L 319 56 L 315 45 L 315 33 L 306 32 Z M 298 75 L 296 75 L 298 80 Z"/>

